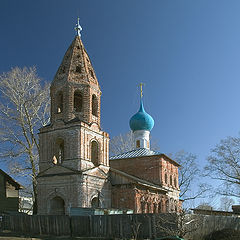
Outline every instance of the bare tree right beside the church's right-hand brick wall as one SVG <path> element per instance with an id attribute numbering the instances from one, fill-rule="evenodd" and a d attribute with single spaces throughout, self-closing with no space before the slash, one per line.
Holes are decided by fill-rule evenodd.
<path id="1" fill-rule="evenodd" d="M 210 187 L 200 181 L 202 176 L 197 164 L 197 156 L 183 150 L 170 155 L 180 164 L 178 169 L 180 198 L 183 201 L 188 201 L 205 197 L 205 193 Z"/>

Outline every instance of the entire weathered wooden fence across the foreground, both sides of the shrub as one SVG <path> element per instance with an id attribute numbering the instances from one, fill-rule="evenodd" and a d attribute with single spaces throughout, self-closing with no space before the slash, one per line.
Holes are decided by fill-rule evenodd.
<path id="1" fill-rule="evenodd" d="M 194 215 L 192 215 L 194 216 Z M 233 228 L 240 230 L 240 218 L 226 216 L 198 216 L 198 229 L 191 239 L 203 239 L 214 230 Z M 176 227 L 176 214 L 122 214 L 102 216 L 28 216 L 5 215 L 0 218 L 0 230 L 22 234 L 48 236 L 76 236 L 129 239 L 140 225 L 138 239 L 165 236 L 163 229 Z M 161 223 L 161 224 L 160 224 Z"/>

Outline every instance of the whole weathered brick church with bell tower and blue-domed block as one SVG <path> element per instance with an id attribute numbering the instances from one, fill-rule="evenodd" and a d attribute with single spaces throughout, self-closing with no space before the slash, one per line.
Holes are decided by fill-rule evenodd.
<path id="1" fill-rule="evenodd" d="M 101 90 L 81 40 L 81 26 L 50 88 L 51 121 L 39 132 L 38 214 L 71 208 L 180 210 L 178 163 L 150 149 L 154 121 L 143 107 L 131 118 L 135 149 L 109 158 L 101 129 Z"/>

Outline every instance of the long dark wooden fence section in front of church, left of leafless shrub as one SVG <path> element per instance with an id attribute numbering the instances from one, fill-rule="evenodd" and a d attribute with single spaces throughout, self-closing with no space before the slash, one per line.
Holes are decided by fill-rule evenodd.
<path id="1" fill-rule="evenodd" d="M 29 235 L 132 238 L 137 226 L 139 239 L 164 235 L 156 228 L 159 218 L 170 214 L 123 214 L 101 216 L 6 215 L 2 229 Z M 172 215 L 171 215 L 172 218 Z"/>

